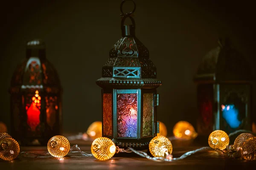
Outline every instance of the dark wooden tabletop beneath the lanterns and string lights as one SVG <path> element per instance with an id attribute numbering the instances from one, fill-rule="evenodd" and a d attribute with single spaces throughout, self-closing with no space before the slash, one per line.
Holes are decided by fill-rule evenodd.
<path id="1" fill-rule="evenodd" d="M 71 145 L 78 144 L 82 151 L 90 153 L 91 142 L 76 140 Z M 189 142 L 172 142 L 173 156 L 179 157 L 183 153 L 195 150 L 201 146 Z M 20 151 L 33 151 L 47 153 L 47 147 L 20 147 Z M 79 154 L 76 154 L 79 155 Z M 81 157 L 67 155 L 57 159 L 52 156 L 47 158 L 31 158 L 18 156 L 13 161 L 0 160 L 0 170 L 85 170 L 85 169 L 120 169 L 120 170 L 255 170 L 256 161 L 243 161 L 227 158 L 221 151 L 208 149 L 195 153 L 180 161 L 156 162 L 140 156 L 123 157 L 118 154 L 107 161 L 99 161 L 94 157 Z M 250 168 L 250 169 L 247 169 Z"/>

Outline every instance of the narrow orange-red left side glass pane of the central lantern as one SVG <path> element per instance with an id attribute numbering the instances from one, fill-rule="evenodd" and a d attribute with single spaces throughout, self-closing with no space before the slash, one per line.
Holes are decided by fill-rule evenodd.
<path id="1" fill-rule="evenodd" d="M 103 135 L 112 136 L 112 94 L 103 94 Z"/>

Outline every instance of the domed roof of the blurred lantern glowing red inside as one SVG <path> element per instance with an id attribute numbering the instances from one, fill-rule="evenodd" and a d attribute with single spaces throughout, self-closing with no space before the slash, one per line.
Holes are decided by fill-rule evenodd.
<path id="1" fill-rule="evenodd" d="M 48 93 L 61 91 L 57 71 L 46 59 L 45 43 L 39 39 L 26 43 L 26 58 L 17 65 L 12 76 L 10 93 L 35 89 Z"/>

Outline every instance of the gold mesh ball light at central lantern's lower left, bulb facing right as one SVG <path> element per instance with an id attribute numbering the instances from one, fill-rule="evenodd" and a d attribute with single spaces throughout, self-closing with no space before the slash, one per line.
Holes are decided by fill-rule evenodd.
<path id="1" fill-rule="evenodd" d="M 91 152 L 96 159 L 105 161 L 111 159 L 116 153 L 116 145 L 106 137 L 100 137 L 93 141 Z"/>

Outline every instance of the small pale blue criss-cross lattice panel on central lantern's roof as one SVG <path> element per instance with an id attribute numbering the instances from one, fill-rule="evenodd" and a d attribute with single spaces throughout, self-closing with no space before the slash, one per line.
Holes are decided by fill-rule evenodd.
<path id="1" fill-rule="evenodd" d="M 140 68 L 113 67 L 113 77 L 140 78 Z"/>

